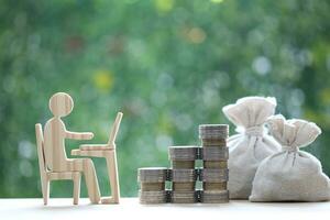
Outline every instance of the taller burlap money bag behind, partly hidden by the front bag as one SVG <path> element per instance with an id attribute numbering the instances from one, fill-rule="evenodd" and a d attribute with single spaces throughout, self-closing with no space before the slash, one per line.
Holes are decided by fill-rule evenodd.
<path id="1" fill-rule="evenodd" d="M 248 199 L 260 162 L 279 151 L 279 144 L 264 128 L 266 119 L 274 114 L 275 107 L 275 98 L 246 97 L 222 109 L 237 125 L 238 132 L 227 142 L 230 198 Z"/>

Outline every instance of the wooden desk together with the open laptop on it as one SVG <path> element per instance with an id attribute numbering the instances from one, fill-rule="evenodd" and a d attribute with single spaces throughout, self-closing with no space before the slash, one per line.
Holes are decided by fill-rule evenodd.
<path id="1" fill-rule="evenodd" d="M 105 157 L 107 161 L 108 176 L 112 197 L 101 199 L 102 204 L 119 204 L 120 189 L 118 178 L 116 138 L 122 119 L 122 113 L 118 112 L 114 123 L 111 128 L 109 141 L 107 144 L 82 144 L 79 150 L 73 150 L 72 155 Z"/>

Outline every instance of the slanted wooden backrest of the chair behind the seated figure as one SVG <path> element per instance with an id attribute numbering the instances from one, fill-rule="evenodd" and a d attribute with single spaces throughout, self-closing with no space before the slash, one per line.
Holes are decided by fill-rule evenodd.
<path id="1" fill-rule="evenodd" d="M 36 147 L 37 147 L 37 157 L 38 157 L 38 168 L 40 174 L 46 174 L 46 161 L 45 161 L 45 152 L 44 152 L 44 135 L 43 129 L 40 123 L 35 124 L 35 135 L 36 135 Z"/>

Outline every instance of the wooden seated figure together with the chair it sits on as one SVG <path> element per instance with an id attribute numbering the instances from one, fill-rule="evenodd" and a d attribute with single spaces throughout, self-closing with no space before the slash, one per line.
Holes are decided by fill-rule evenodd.
<path id="1" fill-rule="evenodd" d="M 61 118 L 68 116 L 74 108 L 72 97 L 64 92 L 57 92 L 50 99 L 50 109 L 54 117 L 45 124 L 44 138 L 41 124 L 36 124 L 36 140 L 42 193 L 44 204 L 50 197 L 50 182 L 55 179 L 74 180 L 74 204 L 78 204 L 80 188 L 80 173 L 84 174 L 89 199 L 92 204 L 99 204 L 100 191 L 94 163 L 90 158 L 67 158 L 65 152 L 65 139 L 90 140 L 91 132 L 67 131 Z"/>

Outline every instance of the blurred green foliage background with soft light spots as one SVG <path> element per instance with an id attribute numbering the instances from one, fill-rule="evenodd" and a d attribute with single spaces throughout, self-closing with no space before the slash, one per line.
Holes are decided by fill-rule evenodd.
<path id="1" fill-rule="evenodd" d="M 329 11 L 327 0 L 0 0 L 0 197 L 41 197 L 34 124 L 56 91 L 74 98 L 64 120 L 95 132 L 88 143 L 107 142 L 123 111 L 122 196 L 136 196 L 138 167 L 167 166 L 168 145 L 199 144 L 198 124 L 228 123 L 221 108 L 252 95 L 321 127 L 306 151 L 330 174 Z"/>

